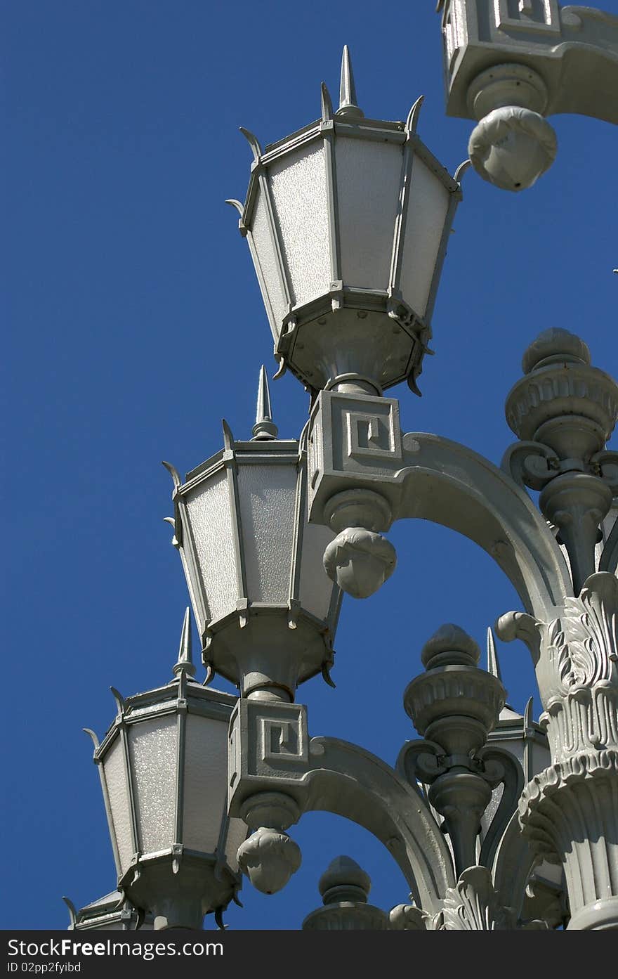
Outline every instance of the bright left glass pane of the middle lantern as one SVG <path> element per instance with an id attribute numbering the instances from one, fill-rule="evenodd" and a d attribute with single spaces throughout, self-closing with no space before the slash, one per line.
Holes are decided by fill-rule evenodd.
<path id="1" fill-rule="evenodd" d="M 230 489 L 225 470 L 210 477 L 191 494 L 187 510 L 210 619 L 219 619 L 236 608 L 239 597 Z"/>

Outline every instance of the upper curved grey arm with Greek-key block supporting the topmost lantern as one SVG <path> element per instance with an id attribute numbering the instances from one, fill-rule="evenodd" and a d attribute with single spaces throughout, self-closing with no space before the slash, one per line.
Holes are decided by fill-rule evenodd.
<path id="1" fill-rule="evenodd" d="M 402 435 L 394 398 L 321 392 L 312 411 L 308 460 L 310 520 L 330 524 L 339 536 L 346 527 L 381 532 L 393 520 L 419 517 L 478 543 L 536 618 L 573 594 L 560 548 L 527 493 L 465 445 Z M 373 557 L 378 564 L 373 546 L 368 539 L 359 558 L 365 566 Z M 349 566 L 354 558 L 346 553 L 342 563 Z M 339 583 L 346 589 L 346 582 Z"/>

